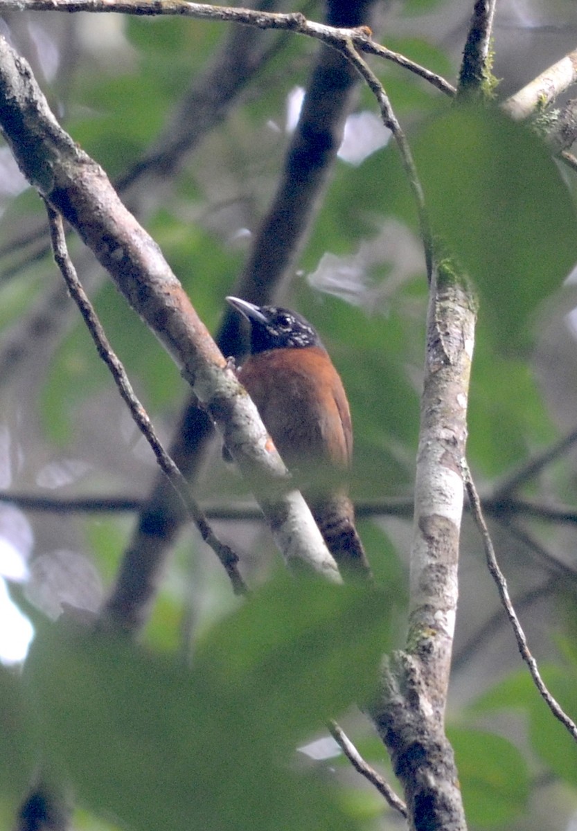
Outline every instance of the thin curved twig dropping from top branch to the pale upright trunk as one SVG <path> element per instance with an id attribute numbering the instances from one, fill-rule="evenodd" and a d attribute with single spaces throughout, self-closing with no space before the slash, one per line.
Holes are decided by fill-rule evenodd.
<path id="1" fill-rule="evenodd" d="M 340 48 L 343 54 L 348 57 L 348 60 L 351 61 L 358 73 L 367 82 L 369 89 L 377 99 L 378 106 L 381 110 L 382 122 L 389 130 L 391 130 L 392 137 L 397 142 L 402 165 L 405 169 L 405 173 L 407 174 L 413 199 L 417 205 L 417 215 L 419 218 L 419 226 L 421 228 L 422 243 L 425 248 L 427 278 L 429 283 L 431 283 L 433 267 L 432 231 L 431 225 L 429 224 L 427 209 L 425 207 L 425 195 L 423 194 L 422 184 L 417 174 L 417 165 L 415 165 L 415 160 L 412 157 L 412 150 L 407 141 L 407 136 L 397 120 L 395 111 L 391 106 L 391 101 L 389 101 L 389 97 L 387 96 L 387 92 L 382 86 L 381 81 L 378 80 L 370 66 L 367 65 L 367 62 L 363 61 L 362 57 L 358 54 L 356 44 L 353 43 L 353 40 L 348 38 L 348 40 L 345 40 L 342 46 L 338 48 Z"/>

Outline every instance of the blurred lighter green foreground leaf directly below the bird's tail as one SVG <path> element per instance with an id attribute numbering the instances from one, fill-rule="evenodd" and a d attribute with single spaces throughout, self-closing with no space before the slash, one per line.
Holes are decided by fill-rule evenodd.
<path id="1" fill-rule="evenodd" d="M 365 587 L 281 574 L 210 632 L 196 671 L 246 696 L 259 725 L 270 720 L 277 739 L 292 742 L 372 694 L 390 605 Z"/>

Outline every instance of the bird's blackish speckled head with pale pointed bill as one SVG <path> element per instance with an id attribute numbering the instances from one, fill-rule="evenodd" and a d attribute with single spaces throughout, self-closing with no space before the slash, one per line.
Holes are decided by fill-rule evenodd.
<path id="1" fill-rule="evenodd" d="M 322 347 L 317 332 L 297 312 L 278 306 L 254 306 L 238 297 L 226 298 L 250 323 L 250 351 Z"/>

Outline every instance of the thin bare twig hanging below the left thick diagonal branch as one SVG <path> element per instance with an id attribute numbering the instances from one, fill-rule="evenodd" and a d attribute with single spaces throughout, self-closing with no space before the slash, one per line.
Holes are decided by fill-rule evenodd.
<path id="1" fill-rule="evenodd" d="M 224 566 L 226 573 L 229 575 L 232 583 L 234 593 L 246 593 L 247 587 L 241 577 L 238 569 L 239 558 L 236 553 L 229 548 L 228 545 L 221 543 L 219 538 L 215 535 L 210 527 L 205 514 L 200 510 L 198 504 L 192 494 L 190 494 L 189 485 L 185 477 L 180 473 L 174 461 L 166 453 L 158 436 L 155 433 L 154 427 L 150 422 L 150 418 L 146 414 L 144 407 L 136 397 L 131 387 L 131 382 L 128 380 L 124 366 L 115 352 L 112 351 L 110 343 L 106 338 L 106 334 L 101 326 L 101 322 L 96 316 L 96 312 L 91 305 L 86 293 L 81 286 L 80 281 L 76 275 L 76 269 L 72 264 L 67 251 L 66 237 L 62 227 L 62 217 L 55 211 L 52 206 L 46 203 L 48 222 L 50 225 L 50 235 L 52 240 L 52 248 L 54 250 L 54 259 L 56 260 L 58 268 L 62 273 L 62 277 L 67 283 L 68 291 L 71 293 L 72 299 L 76 302 L 78 309 L 86 323 L 86 327 L 91 334 L 93 341 L 96 344 L 101 359 L 106 363 L 111 371 L 112 377 L 118 387 L 123 401 L 128 406 L 131 416 L 136 423 L 136 426 L 141 430 L 142 435 L 148 441 L 150 448 L 155 454 L 156 461 L 160 468 L 165 472 L 165 475 L 170 479 L 170 484 L 174 487 L 180 499 L 185 504 L 190 517 L 194 520 L 196 527 L 200 531 L 201 537 L 205 543 L 210 545 L 220 563 Z"/>

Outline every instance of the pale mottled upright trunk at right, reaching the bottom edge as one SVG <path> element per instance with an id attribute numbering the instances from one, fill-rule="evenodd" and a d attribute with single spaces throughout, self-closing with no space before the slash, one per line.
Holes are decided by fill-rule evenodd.
<path id="1" fill-rule="evenodd" d="M 456 616 L 466 408 L 476 312 L 441 263 L 431 289 L 417 455 L 407 649 L 392 656 L 372 718 L 402 780 L 412 829 L 464 829 L 444 710 Z"/>

